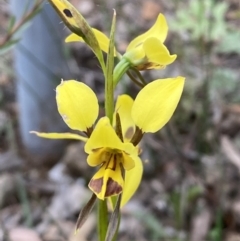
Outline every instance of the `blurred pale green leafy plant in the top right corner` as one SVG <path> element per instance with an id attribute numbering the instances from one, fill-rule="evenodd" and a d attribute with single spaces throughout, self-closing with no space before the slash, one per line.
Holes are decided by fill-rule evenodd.
<path id="1" fill-rule="evenodd" d="M 205 43 L 214 43 L 218 53 L 239 53 L 240 31 L 226 21 L 227 10 L 226 2 L 190 1 L 188 7 L 178 9 L 170 27 L 189 41 L 202 39 Z"/>

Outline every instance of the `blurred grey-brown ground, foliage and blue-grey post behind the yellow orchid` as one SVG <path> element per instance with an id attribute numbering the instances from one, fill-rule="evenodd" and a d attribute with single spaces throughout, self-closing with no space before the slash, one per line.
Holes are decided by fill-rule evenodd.
<path id="1" fill-rule="evenodd" d="M 141 143 L 144 176 L 122 210 L 118 240 L 240 241 L 240 1 L 72 0 L 116 45 L 145 32 L 163 13 L 165 44 L 177 60 L 143 72 L 147 81 L 185 76 L 171 121 Z M 96 212 L 74 227 L 94 173 L 83 144 L 29 131 L 70 131 L 57 113 L 63 79 L 85 82 L 104 102 L 104 79 L 91 50 L 65 44 L 70 32 L 41 0 L 0 0 L 0 240 L 96 240 Z M 139 91 L 126 76 L 117 93 Z M 104 113 L 100 110 L 101 115 Z"/>

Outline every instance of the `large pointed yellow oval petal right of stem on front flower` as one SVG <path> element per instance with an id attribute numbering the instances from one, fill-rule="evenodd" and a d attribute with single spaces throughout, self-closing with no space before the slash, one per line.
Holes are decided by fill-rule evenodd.
<path id="1" fill-rule="evenodd" d="M 183 77 L 158 79 L 137 95 L 132 118 L 143 132 L 156 132 L 171 118 L 182 95 Z"/>

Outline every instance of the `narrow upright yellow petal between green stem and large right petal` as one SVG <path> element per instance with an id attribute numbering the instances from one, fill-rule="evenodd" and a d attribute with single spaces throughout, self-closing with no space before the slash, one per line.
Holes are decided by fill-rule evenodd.
<path id="1" fill-rule="evenodd" d="M 120 116 L 122 134 L 125 141 L 131 140 L 135 131 L 135 124 L 131 116 L 132 106 L 133 99 L 129 95 L 118 96 L 115 107 L 115 115 L 117 112 Z"/>

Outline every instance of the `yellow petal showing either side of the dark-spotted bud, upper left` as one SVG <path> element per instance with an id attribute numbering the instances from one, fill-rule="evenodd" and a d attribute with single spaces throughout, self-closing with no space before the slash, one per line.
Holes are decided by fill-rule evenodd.
<path id="1" fill-rule="evenodd" d="M 109 38 L 101 31 L 95 29 L 95 28 L 92 28 L 92 31 L 99 43 L 99 46 L 101 48 L 101 50 L 105 53 L 108 53 L 108 48 L 109 48 Z M 66 43 L 69 43 L 69 42 L 84 42 L 83 38 L 72 33 L 70 34 L 66 39 L 65 39 L 65 42 Z M 116 53 L 115 53 L 115 56 L 116 56 Z"/>

